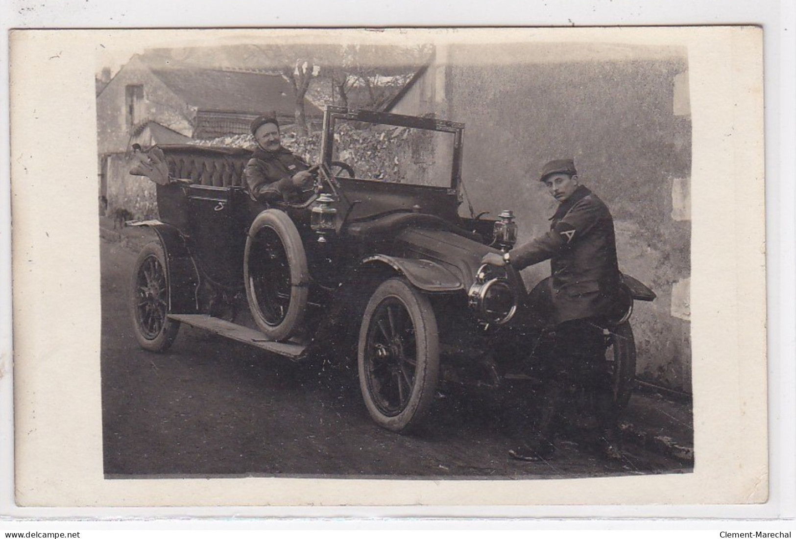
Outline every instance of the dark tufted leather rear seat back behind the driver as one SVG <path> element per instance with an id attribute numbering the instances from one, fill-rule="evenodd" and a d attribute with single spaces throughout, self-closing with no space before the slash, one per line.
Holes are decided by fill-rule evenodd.
<path id="1" fill-rule="evenodd" d="M 194 145 L 160 146 L 169 176 L 193 184 L 230 187 L 241 185 L 244 167 L 252 157 L 248 149 Z"/>

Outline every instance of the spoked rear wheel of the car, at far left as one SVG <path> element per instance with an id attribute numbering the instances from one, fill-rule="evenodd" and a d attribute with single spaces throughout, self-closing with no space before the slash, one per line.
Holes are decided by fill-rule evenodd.
<path id="1" fill-rule="evenodd" d="M 169 276 L 160 243 L 148 243 L 135 261 L 131 283 L 131 316 L 135 339 L 142 348 L 166 351 L 180 329 L 169 320 Z"/>

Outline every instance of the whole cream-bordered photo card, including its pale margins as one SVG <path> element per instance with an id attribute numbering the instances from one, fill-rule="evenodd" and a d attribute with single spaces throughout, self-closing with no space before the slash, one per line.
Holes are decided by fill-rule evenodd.
<path id="1" fill-rule="evenodd" d="M 19 498 L 764 501 L 760 35 L 16 33 Z"/>

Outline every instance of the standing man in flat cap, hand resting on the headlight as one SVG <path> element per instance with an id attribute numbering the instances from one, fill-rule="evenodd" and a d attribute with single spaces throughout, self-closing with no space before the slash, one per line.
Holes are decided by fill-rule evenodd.
<path id="1" fill-rule="evenodd" d="M 621 282 L 616 260 L 614 219 L 602 200 L 579 183 L 572 159 L 544 165 L 540 181 L 559 202 L 550 231 L 505 254 L 486 254 L 482 262 L 516 269 L 550 259 L 555 338 L 543 362 L 542 411 L 533 442 L 509 451 L 519 460 L 547 460 L 555 452 L 552 422 L 564 390 L 577 380 L 594 402 L 598 444 L 608 459 L 618 448 L 617 411 L 605 359 L 603 327 Z"/>

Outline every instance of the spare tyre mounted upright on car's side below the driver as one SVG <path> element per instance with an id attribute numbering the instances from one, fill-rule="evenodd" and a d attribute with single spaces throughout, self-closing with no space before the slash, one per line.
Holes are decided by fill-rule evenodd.
<path id="1" fill-rule="evenodd" d="M 246 238 L 244 284 L 252 318 L 269 339 L 290 339 L 301 328 L 309 282 L 295 224 L 284 211 L 262 211 Z"/>

